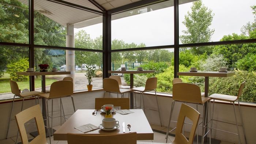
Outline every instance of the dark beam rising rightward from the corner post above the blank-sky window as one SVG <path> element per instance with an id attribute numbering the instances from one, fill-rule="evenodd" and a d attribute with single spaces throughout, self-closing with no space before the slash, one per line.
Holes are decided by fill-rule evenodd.
<path id="1" fill-rule="evenodd" d="M 142 6 L 145 6 L 145 5 L 160 3 L 160 2 L 163 2 L 163 1 L 167 1 L 167 0 L 140 0 L 140 1 L 137 1 L 135 3 L 123 5 L 121 7 L 117 7 L 117 8 L 114 8 L 112 10 L 109 10 L 109 14 L 112 15 L 112 14 L 115 14 L 115 13 L 135 9 L 135 8 L 142 7 Z"/>

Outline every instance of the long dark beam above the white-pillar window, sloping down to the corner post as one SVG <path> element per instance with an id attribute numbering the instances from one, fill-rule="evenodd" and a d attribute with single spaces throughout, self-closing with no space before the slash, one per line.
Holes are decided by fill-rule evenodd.
<path id="1" fill-rule="evenodd" d="M 74 3 L 69 3 L 69 2 L 63 1 L 63 0 L 47 0 L 47 1 L 51 1 L 53 3 L 58 3 L 58 4 L 66 5 L 66 6 L 72 7 L 72 8 L 78 8 L 80 10 L 84 10 L 84 11 L 88 11 L 88 12 L 93 12 L 95 14 L 103 15 L 102 11 L 97 11 L 97 10 L 94 10 L 94 9 L 91 9 L 91 8 L 83 7 L 82 5 L 78 5 L 78 4 L 74 4 Z"/>

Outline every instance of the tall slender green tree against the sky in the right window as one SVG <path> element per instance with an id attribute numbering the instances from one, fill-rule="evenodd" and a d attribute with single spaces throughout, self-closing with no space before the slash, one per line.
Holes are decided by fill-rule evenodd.
<path id="1" fill-rule="evenodd" d="M 193 2 L 191 12 L 185 15 L 185 20 L 182 22 L 187 30 L 182 30 L 185 35 L 180 36 L 182 43 L 200 43 L 209 42 L 214 33 L 214 29 L 210 29 L 212 18 L 212 10 L 208 9 L 201 0 Z M 211 53 L 211 48 L 192 47 L 194 54 Z"/>

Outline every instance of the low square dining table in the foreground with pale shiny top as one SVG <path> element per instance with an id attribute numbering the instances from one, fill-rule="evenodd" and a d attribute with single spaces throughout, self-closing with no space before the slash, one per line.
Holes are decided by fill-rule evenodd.
<path id="1" fill-rule="evenodd" d="M 99 126 L 102 124 L 103 118 L 105 118 L 105 113 L 98 111 L 96 115 L 92 114 L 94 109 L 78 109 L 76 112 L 63 124 L 60 126 L 56 132 L 53 134 L 54 140 L 67 140 L 67 133 L 73 134 L 83 134 L 75 127 L 92 124 Z M 150 124 L 146 118 L 142 109 L 129 109 L 134 113 L 120 114 L 117 112 L 112 112 L 113 118 L 119 122 L 120 127 L 112 131 L 105 131 L 102 129 L 95 129 L 84 134 L 118 134 L 124 133 L 122 123 L 125 122 L 125 133 L 129 133 L 127 125 L 131 125 L 131 132 L 137 133 L 137 140 L 153 140 L 154 133 L 151 129 Z"/>

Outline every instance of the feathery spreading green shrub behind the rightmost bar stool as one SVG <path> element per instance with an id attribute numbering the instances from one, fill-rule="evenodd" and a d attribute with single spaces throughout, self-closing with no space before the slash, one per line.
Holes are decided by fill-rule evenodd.
<path id="1" fill-rule="evenodd" d="M 209 82 L 209 94 L 238 94 L 242 82 L 246 81 L 240 101 L 256 101 L 256 72 L 236 71 L 235 76 L 211 77 Z"/>

